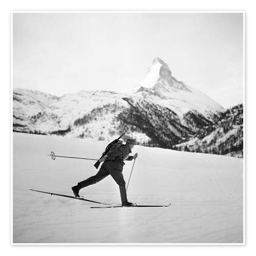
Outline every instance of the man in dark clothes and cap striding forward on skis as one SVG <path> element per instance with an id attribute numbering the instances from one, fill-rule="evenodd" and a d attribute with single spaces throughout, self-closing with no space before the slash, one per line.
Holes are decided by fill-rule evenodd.
<path id="1" fill-rule="evenodd" d="M 115 182 L 119 185 L 122 206 L 134 205 L 133 203 L 127 201 L 125 181 L 123 179 L 122 170 L 124 160 L 132 161 L 138 156 L 137 153 L 134 156 L 129 156 L 129 154 L 132 153 L 132 148 L 134 147 L 135 143 L 136 141 L 134 139 L 127 139 L 126 144 L 117 146 L 113 150 L 110 150 L 107 155 L 101 157 L 99 162 L 103 162 L 103 164 L 101 165 L 98 173 L 86 180 L 78 182 L 76 186 L 72 187 L 75 197 L 80 197 L 79 190 L 81 188 L 95 184 L 105 177 L 111 175 Z"/>

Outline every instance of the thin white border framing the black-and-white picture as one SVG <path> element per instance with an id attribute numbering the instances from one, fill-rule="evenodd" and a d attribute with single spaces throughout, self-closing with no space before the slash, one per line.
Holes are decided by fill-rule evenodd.
<path id="1" fill-rule="evenodd" d="M 15 13 L 243 13 L 243 127 L 245 127 L 245 11 L 11 11 L 10 20 L 10 98 L 13 95 L 13 14 Z M 10 110 L 11 142 L 11 244 L 12 245 L 245 245 L 245 129 L 243 130 L 243 243 L 13 243 L 13 101 Z"/>

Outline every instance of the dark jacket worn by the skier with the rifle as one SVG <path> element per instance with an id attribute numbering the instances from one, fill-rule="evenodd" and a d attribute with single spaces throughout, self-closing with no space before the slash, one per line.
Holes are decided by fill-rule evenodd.
<path id="1" fill-rule="evenodd" d="M 132 151 L 130 150 L 129 146 L 122 144 L 120 147 L 108 153 L 108 157 L 106 158 L 105 162 L 110 164 L 113 168 L 122 170 L 124 160 L 133 160 L 133 156 L 129 156 L 130 153 L 132 153 Z"/>

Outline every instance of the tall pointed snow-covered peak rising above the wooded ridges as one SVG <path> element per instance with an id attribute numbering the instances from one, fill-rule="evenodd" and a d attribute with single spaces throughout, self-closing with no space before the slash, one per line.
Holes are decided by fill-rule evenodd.
<path id="1" fill-rule="evenodd" d="M 212 113 L 224 111 L 219 103 L 207 95 L 177 81 L 168 65 L 160 58 L 154 59 L 152 67 L 137 89 L 137 94 L 147 100 L 158 101 L 166 108 L 172 108 L 180 118 L 189 111 L 196 111 L 211 120 Z"/>

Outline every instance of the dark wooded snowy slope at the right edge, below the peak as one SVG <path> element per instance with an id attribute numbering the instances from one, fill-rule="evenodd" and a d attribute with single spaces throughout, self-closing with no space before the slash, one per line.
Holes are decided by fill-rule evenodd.
<path id="1" fill-rule="evenodd" d="M 243 158 L 243 104 L 216 116 L 214 124 L 199 130 L 194 139 L 173 148 Z"/>

